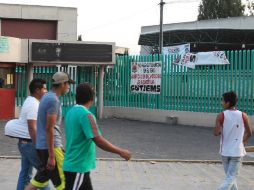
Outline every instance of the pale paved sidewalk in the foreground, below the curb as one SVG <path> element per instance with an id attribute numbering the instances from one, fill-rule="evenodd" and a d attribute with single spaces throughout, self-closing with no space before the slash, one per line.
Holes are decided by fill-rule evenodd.
<path id="1" fill-rule="evenodd" d="M 1 189 L 15 190 L 19 167 L 19 159 L 0 159 Z M 91 173 L 95 190 L 215 190 L 223 177 L 221 164 L 118 160 L 99 160 Z M 243 166 L 238 185 L 254 189 L 253 166 Z"/>

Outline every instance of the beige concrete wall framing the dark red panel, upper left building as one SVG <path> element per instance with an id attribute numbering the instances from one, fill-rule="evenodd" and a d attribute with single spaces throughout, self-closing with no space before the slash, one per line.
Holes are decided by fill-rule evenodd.
<path id="1" fill-rule="evenodd" d="M 62 41 L 77 40 L 77 16 L 77 8 L 74 7 L 0 3 L 0 18 L 57 21 L 57 40 Z"/>

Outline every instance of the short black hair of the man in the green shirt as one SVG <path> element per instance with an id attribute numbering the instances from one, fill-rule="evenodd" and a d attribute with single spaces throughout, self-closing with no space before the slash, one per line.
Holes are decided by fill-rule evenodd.
<path id="1" fill-rule="evenodd" d="M 79 84 L 76 88 L 76 103 L 86 104 L 94 98 L 94 90 L 88 83 Z"/>

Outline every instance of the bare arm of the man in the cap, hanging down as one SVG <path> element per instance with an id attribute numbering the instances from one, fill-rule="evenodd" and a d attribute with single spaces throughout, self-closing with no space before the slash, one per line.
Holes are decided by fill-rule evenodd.
<path id="1" fill-rule="evenodd" d="M 54 128 L 57 121 L 56 114 L 47 114 L 47 123 L 46 123 L 46 140 L 48 145 L 49 158 L 47 163 L 47 168 L 49 170 L 54 169 L 55 167 L 55 152 L 54 152 Z"/>

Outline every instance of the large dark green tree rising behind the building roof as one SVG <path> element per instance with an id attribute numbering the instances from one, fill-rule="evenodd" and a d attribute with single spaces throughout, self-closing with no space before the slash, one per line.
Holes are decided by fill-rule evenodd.
<path id="1" fill-rule="evenodd" d="M 202 0 L 198 20 L 243 16 L 244 9 L 241 0 Z"/>

